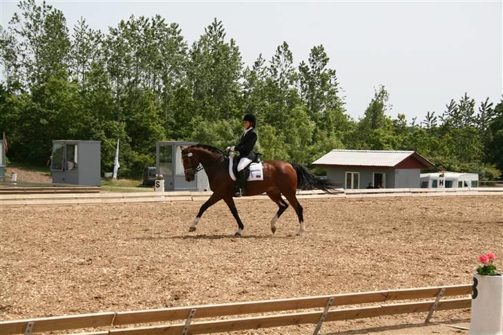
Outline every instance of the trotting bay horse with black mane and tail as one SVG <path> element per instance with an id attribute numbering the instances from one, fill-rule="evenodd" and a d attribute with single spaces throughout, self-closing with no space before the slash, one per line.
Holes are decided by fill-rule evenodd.
<path id="1" fill-rule="evenodd" d="M 219 149 L 205 145 L 195 144 L 182 148 L 182 162 L 185 180 L 192 182 L 196 173 L 205 169 L 213 194 L 202 204 L 196 218 L 193 219 L 189 231 L 196 231 L 196 226 L 202 213 L 220 200 L 224 200 L 229 207 L 234 219 L 238 223 L 235 237 L 240 237 L 245 226 L 239 218 L 236 204 L 233 199 L 234 180 L 229 175 L 229 156 Z M 321 179 L 310 173 L 304 166 L 290 164 L 281 160 L 263 162 L 263 180 L 247 182 L 247 195 L 252 196 L 266 193 L 272 201 L 276 202 L 279 209 L 271 220 L 271 231 L 276 232 L 276 221 L 288 208 L 288 203 L 283 200 L 284 195 L 294 208 L 298 217 L 299 229 L 297 236 L 305 233 L 303 208 L 296 198 L 297 189 L 321 189 L 325 193 L 336 193 L 335 184 L 331 180 Z"/>

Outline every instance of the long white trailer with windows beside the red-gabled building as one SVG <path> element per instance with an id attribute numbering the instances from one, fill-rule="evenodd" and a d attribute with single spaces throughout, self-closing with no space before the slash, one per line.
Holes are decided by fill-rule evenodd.
<path id="1" fill-rule="evenodd" d="M 478 187 L 477 173 L 435 172 L 421 173 L 421 189 L 462 189 L 464 187 Z"/>

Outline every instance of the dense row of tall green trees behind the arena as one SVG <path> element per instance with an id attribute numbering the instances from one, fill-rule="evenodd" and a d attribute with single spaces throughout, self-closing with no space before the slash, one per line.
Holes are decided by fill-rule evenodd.
<path id="1" fill-rule="evenodd" d="M 332 149 L 415 150 L 435 170 L 501 178 L 503 101 L 486 99 L 475 113 L 465 93 L 408 124 L 405 113 L 387 114 L 390 95 L 379 86 L 354 121 L 329 61 L 323 45 L 313 46 L 296 67 L 283 41 L 269 61 L 259 54 L 243 68 L 218 19 L 190 47 L 178 23 L 159 15 L 131 16 L 107 32 L 81 19 L 70 35 L 61 11 L 23 0 L 0 27 L 0 128 L 9 157 L 39 165 L 52 140 L 99 140 L 103 171 L 112 171 L 119 139 L 119 175 L 138 178 L 155 163 L 155 142 L 224 149 L 242 135 L 243 114 L 254 113 L 263 160 L 310 165 Z"/>

